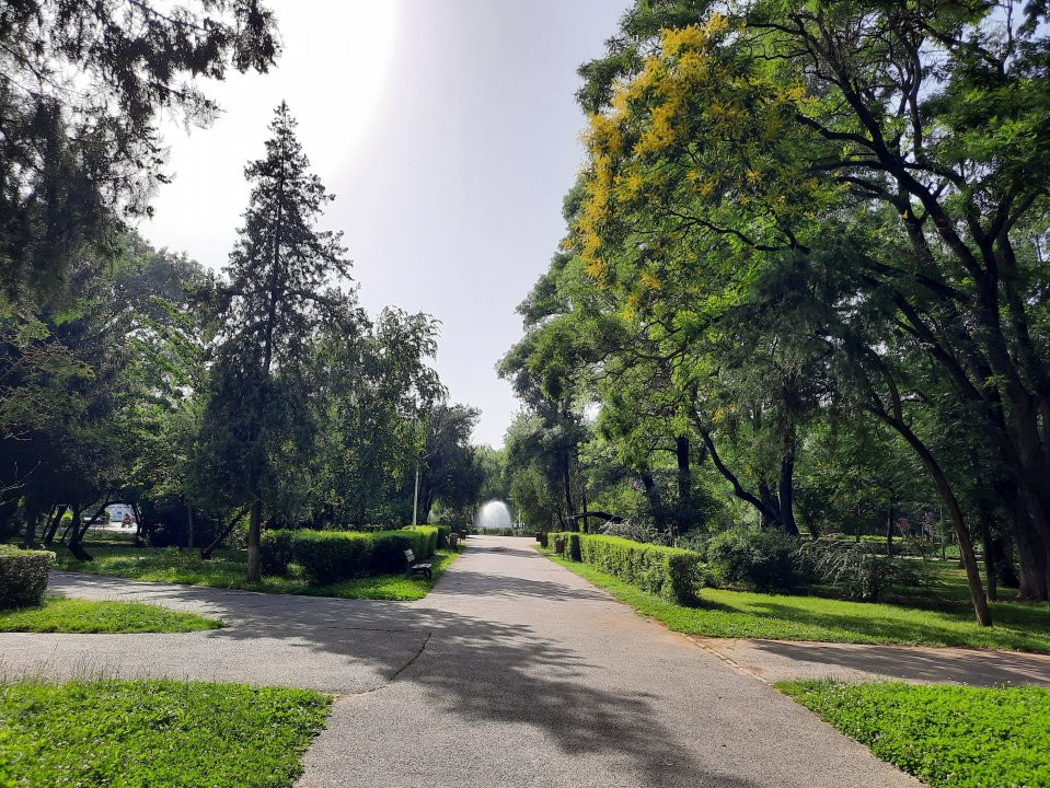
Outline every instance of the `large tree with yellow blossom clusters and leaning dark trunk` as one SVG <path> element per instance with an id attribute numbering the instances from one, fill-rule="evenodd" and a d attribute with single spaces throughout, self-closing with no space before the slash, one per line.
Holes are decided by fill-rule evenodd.
<path id="1" fill-rule="evenodd" d="M 679 328 L 778 282 L 764 302 L 793 311 L 785 338 L 823 344 L 839 391 L 930 473 L 983 624 L 955 457 L 918 412 L 933 364 L 982 415 L 1027 513 L 1015 528 L 1046 545 L 1032 233 L 1050 159 L 1031 141 L 1047 10 L 1005 7 L 639 3 L 584 68 L 596 114 L 575 246 L 646 314 L 671 320 L 666 293 L 691 293 L 701 309 Z"/>

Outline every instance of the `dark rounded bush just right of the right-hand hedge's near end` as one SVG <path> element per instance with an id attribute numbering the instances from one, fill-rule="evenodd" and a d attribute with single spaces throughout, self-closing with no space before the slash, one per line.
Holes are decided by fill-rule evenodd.
<path id="1" fill-rule="evenodd" d="M 707 565 L 723 586 L 785 591 L 797 586 L 797 545 L 781 531 L 725 531 L 707 545 Z"/>

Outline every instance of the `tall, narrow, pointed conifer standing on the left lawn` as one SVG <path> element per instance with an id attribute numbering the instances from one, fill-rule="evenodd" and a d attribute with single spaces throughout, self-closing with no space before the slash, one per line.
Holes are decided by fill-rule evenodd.
<path id="1" fill-rule="evenodd" d="M 333 289 L 349 273 L 342 233 L 316 228 L 333 196 L 308 172 L 296 125 L 282 102 L 265 158 L 244 171 L 253 188 L 226 268 L 230 298 L 197 474 L 205 487 L 221 487 L 224 503 L 251 511 L 250 581 L 261 579 L 259 531 L 276 484 L 275 450 L 309 431 L 309 409 L 301 407 L 309 389 L 301 374 L 305 345 L 326 308 L 347 298 Z"/>

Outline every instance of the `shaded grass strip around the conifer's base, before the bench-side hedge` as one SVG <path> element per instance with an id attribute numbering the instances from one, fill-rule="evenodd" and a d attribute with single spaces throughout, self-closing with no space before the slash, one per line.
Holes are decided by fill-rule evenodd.
<path id="1" fill-rule="evenodd" d="M 288 577 L 264 577 L 261 583 L 244 579 L 247 557 L 243 551 L 218 551 L 211 560 L 204 560 L 196 552 L 175 547 L 143 548 L 123 545 L 90 544 L 92 561 L 77 560 L 65 547 L 55 549 L 57 567 L 68 571 L 108 575 L 130 580 L 186 583 L 209 588 L 244 589 L 266 593 L 295 593 L 310 596 L 341 596 L 343 599 L 417 600 L 427 595 L 438 578 L 455 560 L 458 553 L 439 551 L 431 558 L 434 580 L 422 575 L 380 575 L 358 578 L 331 586 L 310 586 L 299 567 L 291 566 Z"/>

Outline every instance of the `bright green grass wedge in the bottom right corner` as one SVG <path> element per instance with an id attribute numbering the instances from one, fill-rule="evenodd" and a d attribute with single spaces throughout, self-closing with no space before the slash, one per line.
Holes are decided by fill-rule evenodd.
<path id="1" fill-rule="evenodd" d="M 1050 690 L 777 684 L 932 788 L 1050 785 Z"/>

